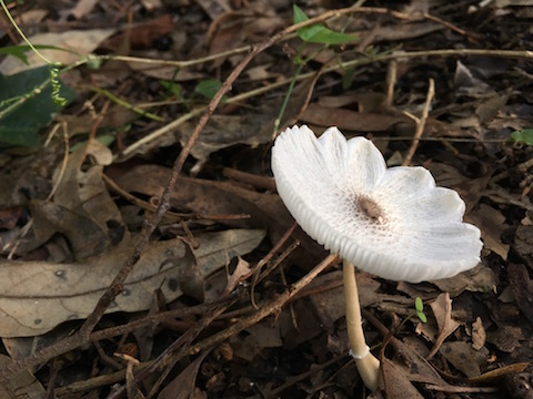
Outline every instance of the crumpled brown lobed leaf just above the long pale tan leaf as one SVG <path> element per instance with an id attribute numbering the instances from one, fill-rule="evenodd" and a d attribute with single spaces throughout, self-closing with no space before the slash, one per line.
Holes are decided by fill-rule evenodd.
<path id="1" fill-rule="evenodd" d="M 92 164 L 86 166 L 88 157 Z M 76 259 L 129 243 L 122 215 L 102 181 L 103 167 L 111 162 L 111 151 L 93 140 L 69 156 L 64 171 L 58 166 L 54 181 L 59 180 L 59 184 L 53 203 L 33 201 L 30 204 L 39 242 L 62 233 Z"/>

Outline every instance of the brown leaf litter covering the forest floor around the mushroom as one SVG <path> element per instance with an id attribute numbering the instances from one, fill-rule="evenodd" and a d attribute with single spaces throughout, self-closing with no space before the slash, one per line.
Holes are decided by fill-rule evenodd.
<path id="1" fill-rule="evenodd" d="M 429 79 L 435 99 L 412 164 L 459 191 L 466 222 L 482 231 L 483 263 L 431 284 L 358 276 L 364 327 L 382 360 L 370 397 L 533 395 L 531 55 L 489 51 L 531 48 L 531 7 L 369 2 L 338 12 L 309 1 L 296 22 L 324 16 L 321 24 L 285 33 L 247 61 L 248 44 L 294 22 L 289 4 L 67 3 L 10 8 L 33 44 L 77 43 L 76 54 L 47 53 L 53 61 L 104 58 L 72 71 L 77 98 L 49 127 L 26 127 L 43 147 L 0 137 L 10 145 L 0 154 L 0 376 L 10 381 L 2 396 L 361 397 L 338 264 L 293 228 L 269 147 L 276 124 L 338 125 L 402 164 Z M 19 42 L 9 25 L 0 34 L 4 45 Z M 429 55 L 435 43 L 486 52 Z M 27 54 L 29 65 L 2 55 L 2 73 L 36 68 Z M 242 62 L 250 64 L 197 137 L 209 109 L 199 84 L 223 82 Z M 107 145 L 94 140 L 104 136 Z M 161 203 L 180 152 L 192 156 Z M 141 227 L 165 201 L 148 239 Z M 112 283 L 142 237 L 139 262 Z M 330 266 L 311 282 L 314 265 Z M 118 295 L 102 308 L 105 290 Z M 101 320 L 87 330 L 95 307 Z"/>

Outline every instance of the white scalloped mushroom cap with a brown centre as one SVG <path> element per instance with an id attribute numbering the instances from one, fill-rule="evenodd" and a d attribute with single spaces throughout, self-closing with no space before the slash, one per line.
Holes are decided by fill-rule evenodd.
<path id="1" fill-rule="evenodd" d="M 480 262 L 480 231 L 463 223 L 459 194 L 436 187 L 424 167 L 388 168 L 364 137 L 286 129 L 272 147 L 272 171 L 303 231 L 362 270 L 420 283 Z"/>

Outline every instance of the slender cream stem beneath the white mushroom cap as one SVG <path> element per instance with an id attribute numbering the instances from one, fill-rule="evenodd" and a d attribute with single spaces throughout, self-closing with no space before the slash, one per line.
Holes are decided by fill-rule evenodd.
<path id="1" fill-rule="evenodd" d="M 359 305 L 358 283 L 355 280 L 355 268 L 343 260 L 344 295 L 346 298 L 346 329 L 350 340 L 350 352 L 358 366 L 359 375 L 366 388 L 378 388 L 378 376 L 380 374 L 380 360 L 369 350 L 364 339 L 363 325 L 361 320 L 361 306 Z"/>

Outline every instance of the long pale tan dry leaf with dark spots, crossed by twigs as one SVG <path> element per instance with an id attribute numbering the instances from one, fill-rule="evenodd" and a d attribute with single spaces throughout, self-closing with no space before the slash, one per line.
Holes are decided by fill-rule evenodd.
<path id="1" fill-rule="evenodd" d="M 223 267 L 228 256 L 254 249 L 264 235 L 263 231 L 245 229 L 199 235 L 200 247 L 193 250 L 193 257 L 185 256 L 185 244 L 181 239 L 153 243 L 147 247 L 108 313 L 145 310 L 157 289 L 171 301 L 182 294 L 180 282 L 193 266 L 194 258 L 205 277 Z M 0 336 L 40 335 L 62 321 L 87 317 L 130 252 L 130 248 L 115 249 L 71 265 L 2 262 Z"/>

